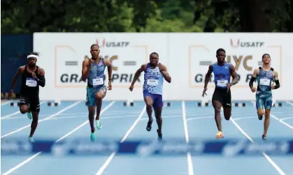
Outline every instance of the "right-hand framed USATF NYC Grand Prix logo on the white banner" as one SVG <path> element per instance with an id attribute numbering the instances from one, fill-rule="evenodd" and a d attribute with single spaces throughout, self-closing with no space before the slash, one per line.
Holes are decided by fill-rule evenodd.
<path id="1" fill-rule="evenodd" d="M 215 45 L 217 45 L 217 43 Z M 262 66 L 262 55 L 264 53 L 269 53 L 271 55 L 271 67 L 278 71 L 280 79 L 282 71 L 282 53 L 280 45 L 266 45 L 262 41 L 248 41 L 242 39 L 230 39 L 228 44 L 219 45 L 223 45 L 223 48 L 226 50 L 225 61 L 231 63 L 238 74 L 239 81 L 236 86 L 243 88 L 248 87 L 253 70 Z M 218 48 L 219 47 L 215 47 L 214 45 L 190 46 L 190 87 L 203 88 L 208 66 L 217 62 L 215 52 Z M 213 73 L 208 86 L 211 85 L 214 86 Z"/>

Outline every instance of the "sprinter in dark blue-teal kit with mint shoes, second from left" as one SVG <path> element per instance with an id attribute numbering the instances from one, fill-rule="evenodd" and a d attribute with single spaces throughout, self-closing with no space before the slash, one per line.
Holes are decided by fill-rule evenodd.
<path id="1" fill-rule="evenodd" d="M 103 59 L 99 56 L 99 45 L 94 44 L 91 46 L 90 50 L 92 54 L 91 59 L 85 59 L 83 61 L 83 81 L 87 80 L 87 96 L 86 96 L 86 105 L 89 111 L 89 121 L 91 127 L 91 136 L 92 140 L 95 139 L 94 132 L 94 114 L 96 112 L 97 107 L 97 116 L 96 116 L 96 124 L 97 129 L 100 130 L 102 128 L 102 124 L 100 121 L 100 112 L 102 100 L 106 96 L 106 86 L 104 84 L 104 71 L 106 66 L 108 67 L 108 90 L 112 89 L 111 78 L 112 77 L 112 66 L 110 61 Z"/>

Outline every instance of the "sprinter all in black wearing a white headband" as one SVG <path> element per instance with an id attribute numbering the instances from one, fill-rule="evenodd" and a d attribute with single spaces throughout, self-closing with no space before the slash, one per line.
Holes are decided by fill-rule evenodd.
<path id="1" fill-rule="evenodd" d="M 40 112 L 38 86 L 45 86 L 45 70 L 36 66 L 38 58 L 39 54 L 37 52 L 29 52 L 27 55 L 27 65 L 20 66 L 20 68 L 17 69 L 9 93 L 9 97 L 11 97 L 18 77 L 22 76 L 22 84 L 20 87 L 20 112 L 22 114 L 27 113 L 28 118 L 33 119 L 31 122 L 31 132 L 29 134 L 30 142 L 34 142 L 33 135 L 38 125 L 38 113 Z"/>

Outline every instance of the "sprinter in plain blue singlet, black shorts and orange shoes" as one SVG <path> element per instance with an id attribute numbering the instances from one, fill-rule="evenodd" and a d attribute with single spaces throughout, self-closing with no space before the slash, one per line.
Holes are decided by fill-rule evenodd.
<path id="1" fill-rule="evenodd" d="M 214 73 L 215 77 L 215 91 L 213 93 L 212 103 L 215 109 L 215 122 L 217 123 L 217 134 L 216 138 L 223 138 L 221 123 L 221 107 L 224 108 L 224 118 L 228 121 L 231 116 L 231 86 L 238 83 L 238 75 L 235 71 L 235 67 L 231 63 L 225 61 L 226 51 L 222 48 L 216 52 L 217 62 L 213 63 L 208 67 L 208 73 L 206 73 L 206 79 L 204 82 L 204 88 L 202 97 L 208 90 L 208 82 L 210 81 L 210 75 Z M 230 82 L 230 76 L 233 78 Z"/>

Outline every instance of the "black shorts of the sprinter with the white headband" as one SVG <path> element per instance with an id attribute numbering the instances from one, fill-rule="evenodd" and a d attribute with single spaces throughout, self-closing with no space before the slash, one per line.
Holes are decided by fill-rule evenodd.
<path id="1" fill-rule="evenodd" d="M 40 99 L 36 95 L 20 95 L 20 106 L 22 105 L 28 105 L 31 112 L 40 112 Z"/>

